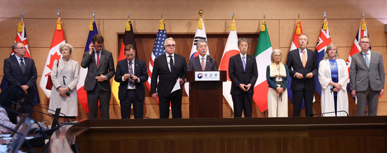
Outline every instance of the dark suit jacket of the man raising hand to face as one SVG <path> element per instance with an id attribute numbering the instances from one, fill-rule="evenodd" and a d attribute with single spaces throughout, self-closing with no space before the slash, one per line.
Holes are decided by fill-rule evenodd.
<path id="1" fill-rule="evenodd" d="M 95 51 L 89 54 L 89 51 L 85 51 L 83 54 L 82 62 L 80 63 L 82 68 L 87 68 L 86 79 L 84 80 L 84 90 L 92 91 L 94 87 L 97 87 L 102 91 L 110 91 L 109 80 L 114 76 L 114 61 L 111 52 L 102 48 L 100 54 L 100 64 L 97 69 L 97 62 L 95 57 Z M 98 74 L 106 75 L 107 80 L 98 82 L 96 76 Z"/>

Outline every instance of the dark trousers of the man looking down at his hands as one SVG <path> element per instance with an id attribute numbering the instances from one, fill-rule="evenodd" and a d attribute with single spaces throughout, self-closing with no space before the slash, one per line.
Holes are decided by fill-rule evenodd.
<path id="1" fill-rule="evenodd" d="M 124 100 L 120 100 L 121 118 L 130 118 L 129 114 L 133 105 L 134 118 L 143 118 L 144 116 L 144 101 L 141 101 L 136 93 L 136 89 L 126 90 Z"/>

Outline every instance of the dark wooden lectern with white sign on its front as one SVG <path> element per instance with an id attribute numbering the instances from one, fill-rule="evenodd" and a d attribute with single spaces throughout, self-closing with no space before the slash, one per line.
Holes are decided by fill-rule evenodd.
<path id="1" fill-rule="evenodd" d="M 186 78 L 190 82 L 190 118 L 223 118 L 226 71 L 187 71 Z"/>

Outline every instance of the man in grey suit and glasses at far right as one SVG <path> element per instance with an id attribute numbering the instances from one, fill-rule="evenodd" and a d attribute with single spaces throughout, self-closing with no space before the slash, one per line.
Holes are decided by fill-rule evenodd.
<path id="1" fill-rule="evenodd" d="M 384 94 L 384 64 L 381 53 L 371 51 L 371 40 L 360 38 L 361 52 L 352 55 L 350 68 L 351 95 L 357 97 L 357 116 L 377 115 L 379 95 Z"/>

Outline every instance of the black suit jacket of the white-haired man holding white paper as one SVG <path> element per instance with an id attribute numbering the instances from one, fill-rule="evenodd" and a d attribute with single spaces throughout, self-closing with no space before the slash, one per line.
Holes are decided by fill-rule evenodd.
<path id="1" fill-rule="evenodd" d="M 174 71 L 168 68 L 167 56 L 160 55 L 154 59 L 150 93 L 158 93 L 159 96 L 168 97 L 172 91 L 177 78 L 185 79 L 187 72 L 186 57 L 174 53 Z M 159 84 L 157 84 L 159 78 Z M 180 85 L 181 87 L 181 85 Z M 157 92 L 156 92 L 157 88 Z"/>

